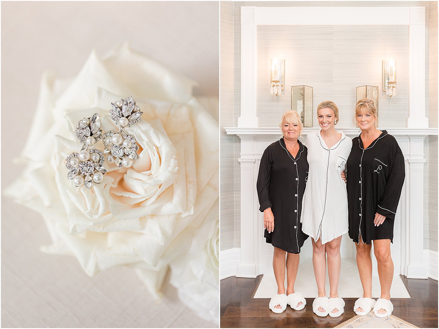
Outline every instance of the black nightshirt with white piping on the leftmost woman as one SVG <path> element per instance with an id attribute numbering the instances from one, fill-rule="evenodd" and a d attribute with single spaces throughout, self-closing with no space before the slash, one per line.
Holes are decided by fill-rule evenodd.
<path id="1" fill-rule="evenodd" d="M 294 158 L 285 147 L 284 139 L 269 145 L 259 165 L 258 190 L 260 211 L 271 207 L 274 231 L 264 231 L 266 242 L 287 251 L 299 253 L 308 235 L 302 232 L 300 213 L 308 179 L 308 150 L 299 141 Z"/>

